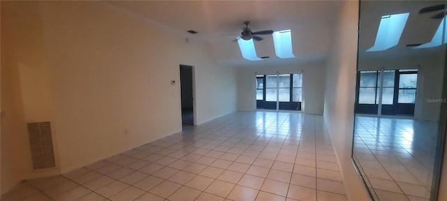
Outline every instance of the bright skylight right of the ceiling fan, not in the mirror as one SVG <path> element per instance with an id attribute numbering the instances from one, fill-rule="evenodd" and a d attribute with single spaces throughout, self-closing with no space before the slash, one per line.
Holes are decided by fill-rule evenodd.
<path id="1" fill-rule="evenodd" d="M 273 32 L 274 52 L 281 59 L 293 58 L 291 30 Z"/>

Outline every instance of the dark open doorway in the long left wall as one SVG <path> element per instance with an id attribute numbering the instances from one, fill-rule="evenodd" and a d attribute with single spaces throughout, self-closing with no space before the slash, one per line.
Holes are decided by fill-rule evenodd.
<path id="1" fill-rule="evenodd" d="M 193 66 L 180 65 L 182 124 L 194 125 Z"/>

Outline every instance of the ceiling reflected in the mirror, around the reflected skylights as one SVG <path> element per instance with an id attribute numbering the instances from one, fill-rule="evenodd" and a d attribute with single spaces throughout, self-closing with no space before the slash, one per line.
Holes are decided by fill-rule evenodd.
<path id="1" fill-rule="evenodd" d="M 359 59 L 427 56 L 441 53 L 445 46 L 413 49 L 409 44 L 424 44 L 432 40 L 442 19 L 431 19 L 441 10 L 419 14 L 421 8 L 444 4 L 446 1 L 362 1 L 360 3 Z M 366 52 L 374 46 L 383 15 L 410 13 L 399 43 L 388 50 Z"/>

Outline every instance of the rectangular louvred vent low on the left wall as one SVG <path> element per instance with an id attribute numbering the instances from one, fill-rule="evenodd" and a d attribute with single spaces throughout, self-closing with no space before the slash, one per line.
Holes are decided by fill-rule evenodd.
<path id="1" fill-rule="evenodd" d="M 56 167 L 50 121 L 28 124 L 34 170 Z"/>

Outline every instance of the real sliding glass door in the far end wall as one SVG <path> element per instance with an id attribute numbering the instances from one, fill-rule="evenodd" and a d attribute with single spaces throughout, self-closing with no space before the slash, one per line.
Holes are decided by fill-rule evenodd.
<path id="1" fill-rule="evenodd" d="M 302 74 L 256 76 L 256 108 L 301 110 Z"/>

